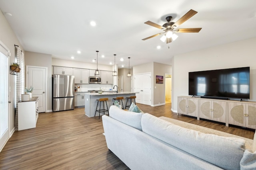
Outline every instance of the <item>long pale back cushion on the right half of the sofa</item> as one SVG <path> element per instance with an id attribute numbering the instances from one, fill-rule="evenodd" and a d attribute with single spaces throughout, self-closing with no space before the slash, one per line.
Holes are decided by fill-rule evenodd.
<path id="1" fill-rule="evenodd" d="M 202 160 L 227 170 L 240 169 L 245 141 L 186 129 L 144 113 L 142 131 Z"/>

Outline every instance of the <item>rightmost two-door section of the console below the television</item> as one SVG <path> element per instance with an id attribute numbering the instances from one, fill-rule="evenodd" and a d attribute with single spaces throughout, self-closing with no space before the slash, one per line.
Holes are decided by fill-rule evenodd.
<path id="1" fill-rule="evenodd" d="M 228 102 L 228 123 L 256 129 L 255 102 Z"/>

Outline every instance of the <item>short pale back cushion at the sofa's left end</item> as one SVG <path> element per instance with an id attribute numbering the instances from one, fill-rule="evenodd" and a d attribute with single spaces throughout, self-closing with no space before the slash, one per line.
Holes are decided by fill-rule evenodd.
<path id="1" fill-rule="evenodd" d="M 135 113 L 132 111 L 124 111 L 114 105 L 109 108 L 109 117 L 116 119 L 126 125 L 134 127 L 140 131 L 141 128 L 141 116 L 143 113 Z"/>

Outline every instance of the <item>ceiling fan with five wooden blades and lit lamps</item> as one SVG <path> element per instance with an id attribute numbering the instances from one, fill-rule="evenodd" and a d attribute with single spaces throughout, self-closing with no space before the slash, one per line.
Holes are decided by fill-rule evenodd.
<path id="1" fill-rule="evenodd" d="M 158 25 L 154 22 L 151 21 L 146 21 L 145 23 L 162 29 L 164 32 L 162 33 L 158 33 L 155 35 L 152 35 L 150 37 L 144 38 L 142 40 L 147 40 L 150 39 L 152 37 L 156 37 L 158 35 L 164 34 L 166 33 L 161 40 L 164 42 L 166 40 L 166 43 L 171 43 L 172 39 L 175 40 L 178 36 L 174 33 L 198 33 L 202 28 L 180 28 L 180 29 L 176 29 L 176 27 L 180 26 L 182 23 L 184 23 L 186 20 L 188 20 L 189 18 L 191 18 L 192 16 L 194 16 L 197 12 L 194 10 L 189 10 L 184 16 L 182 16 L 178 21 L 174 22 L 170 22 L 172 19 L 172 16 L 168 16 L 166 17 L 166 21 L 167 23 L 165 23 L 164 25 Z"/>

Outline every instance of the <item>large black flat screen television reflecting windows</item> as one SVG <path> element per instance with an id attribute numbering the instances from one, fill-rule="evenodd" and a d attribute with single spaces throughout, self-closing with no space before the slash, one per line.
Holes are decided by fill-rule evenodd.
<path id="1" fill-rule="evenodd" d="M 250 67 L 188 73 L 188 95 L 201 98 L 250 98 Z"/>

